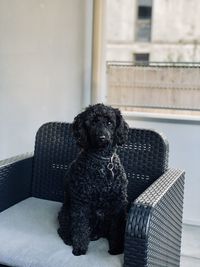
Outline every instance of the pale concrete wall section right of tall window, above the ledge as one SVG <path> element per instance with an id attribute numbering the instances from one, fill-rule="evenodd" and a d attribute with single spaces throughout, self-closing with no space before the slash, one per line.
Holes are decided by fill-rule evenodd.
<path id="1" fill-rule="evenodd" d="M 153 42 L 200 41 L 198 0 L 153 0 Z"/>

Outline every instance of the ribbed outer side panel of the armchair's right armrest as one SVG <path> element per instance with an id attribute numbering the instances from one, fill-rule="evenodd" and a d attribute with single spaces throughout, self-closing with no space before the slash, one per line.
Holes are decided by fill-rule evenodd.
<path id="1" fill-rule="evenodd" d="M 180 264 L 184 176 L 171 186 L 152 211 L 148 233 L 148 267 Z"/>

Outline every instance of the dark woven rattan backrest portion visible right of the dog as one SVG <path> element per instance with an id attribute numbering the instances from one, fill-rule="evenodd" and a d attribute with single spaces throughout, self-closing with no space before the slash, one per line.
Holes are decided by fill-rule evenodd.
<path id="1" fill-rule="evenodd" d="M 130 129 L 127 143 L 118 149 L 129 180 L 130 201 L 167 170 L 168 150 L 167 141 L 157 132 Z"/>

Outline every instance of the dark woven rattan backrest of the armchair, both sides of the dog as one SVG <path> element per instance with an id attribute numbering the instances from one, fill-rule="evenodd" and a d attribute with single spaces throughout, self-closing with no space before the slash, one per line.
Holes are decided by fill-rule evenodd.
<path id="1" fill-rule="evenodd" d="M 63 201 L 64 176 L 78 151 L 69 123 L 44 124 L 36 135 L 32 196 Z M 118 154 L 129 179 L 131 201 L 168 167 L 168 143 L 152 130 L 130 129 Z"/>

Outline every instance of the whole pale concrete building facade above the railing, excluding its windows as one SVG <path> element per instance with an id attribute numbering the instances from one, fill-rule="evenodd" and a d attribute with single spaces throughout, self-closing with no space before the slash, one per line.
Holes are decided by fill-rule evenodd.
<path id="1" fill-rule="evenodd" d="M 153 0 L 151 42 L 135 41 L 136 0 L 108 0 L 107 60 L 132 61 L 150 53 L 150 61 L 200 61 L 199 0 Z"/>

